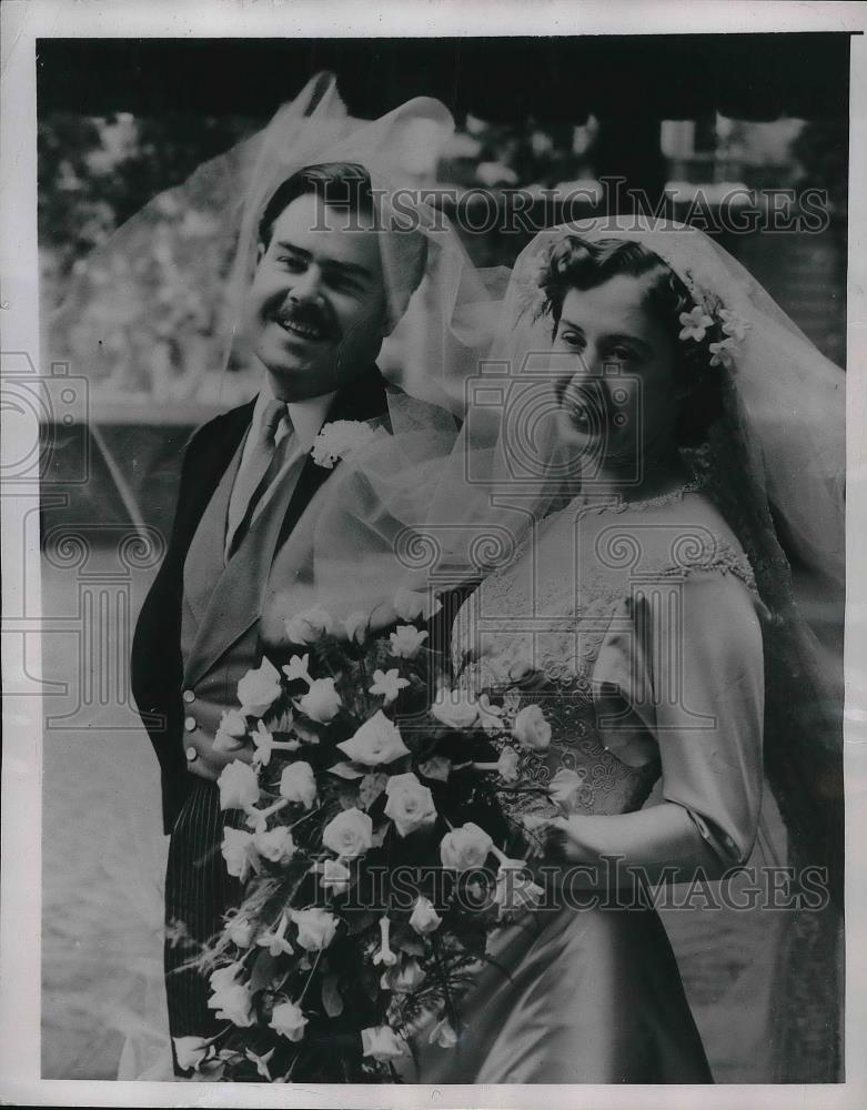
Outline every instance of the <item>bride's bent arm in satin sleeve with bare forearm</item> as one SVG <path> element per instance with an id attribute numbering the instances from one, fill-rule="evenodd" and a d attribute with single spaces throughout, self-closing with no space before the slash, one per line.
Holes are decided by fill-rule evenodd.
<path id="1" fill-rule="evenodd" d="M 627 607 L 632 620 L 601 660 L 656 740 L 665 800 L 633 814 L 559 818 L 551 852 L 588 865 L 619 857 L 652 882 L 665 868 L 681 881 L 697 868 L 718 878 L 746 862 L 762 799 L 764 663 L 753 599 L 736 578 L 712 573 L 673 593 L 648 589 Z"/>

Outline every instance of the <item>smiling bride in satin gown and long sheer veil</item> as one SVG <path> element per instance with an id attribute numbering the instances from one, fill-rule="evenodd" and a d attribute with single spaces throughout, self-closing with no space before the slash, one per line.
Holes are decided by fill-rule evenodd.
<path id="1" fill-rule="evenodd" d="M 558 881 L 552 908 L 492 939 L 457 1045 L 422 1032 L 406 1078 L 708 1082 L 641 894 L 747 861 L 763 740 L 796 858 L 839 852 L 835 676 L 789 575 L 790 561 L 814 597 L 841 578 L 839 371 L 677 225 L 542 233 L 504 321 L 492 361 L 507 375 L 475 394 L 415 531 L 434 581 L 485 574 L 453 627 L 458 684 L 517 685 L 551 725 L 501 798 Z M 498 566 L 481 566 L 486 545 Z M 798 958 L 833 979 L 827 920 Z"/>

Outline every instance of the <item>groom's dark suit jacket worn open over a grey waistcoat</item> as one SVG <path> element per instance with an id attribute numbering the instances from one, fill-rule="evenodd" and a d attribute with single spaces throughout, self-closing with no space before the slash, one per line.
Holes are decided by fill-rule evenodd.
<path id="1" fill-rule="evenodd" d="M 163 827 L 167 833 L 171 831 L 193 780 L 184 755 L 185 712 L 181 698 L 184 678 L 181 652 L 184 562 L 202 515 L 235 457 L 252 414 L 253 402 L 249 402 L 209 421 L 190 440 L 181 468 L 178 507 L 165 557 L 142 606 L 133 637 L 132 692 L 160 763 Z M 373 420 L 386 414 L 385 383 L 373 366 L 336 394 L 325 418 Z M 285 561 L 284 556 L 292 556 L 289 541 L 293 529 L 332 473 L 326 467 L 317 466 L 310 457 L 304 462 L 279 526 L 275 553 L 281 562 Z M 284 547 L 285 552 L 282 551 Z M 251 612 L 248 625 L 255 625 L 258 618 L 259 613 Z"/>

